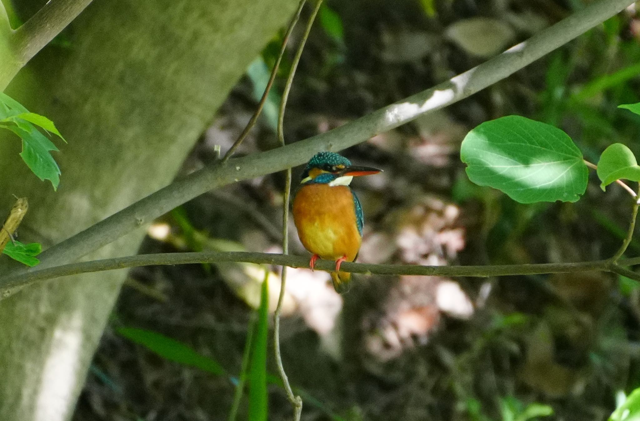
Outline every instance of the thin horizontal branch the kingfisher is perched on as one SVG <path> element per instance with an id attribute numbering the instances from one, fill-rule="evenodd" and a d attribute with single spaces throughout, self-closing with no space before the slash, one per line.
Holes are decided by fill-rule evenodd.
<path id="1" fill-rule="evenodd" d="M 71 276 L 79 273 L 111 271 L 127 267 L 202 264 L 217 262 L 246 262 L 269 264 L 273 266 L 309 267 L 308 257 L 280 255 L 271 253 L 249 253 L 244 251 L 202 251 L 198 253 L 156 253 L 127 257 L 106 258 L 77 262 L 54 267 L 32 267 L 22 273 L 8 274 L 0 277 L 0 291 L 22 287 L 47 279 Z M 416 266 L 393 264 L 365 264 L 344 262 L 340 269 L 351 273 L 380 275 L 422 275 L 422 276 L 468 276 L 486 278 L 488 276 L 531 275 L 547 273 L 570 273 L 584 271 L 615 272 L 621 266 L 640 264 L 640 257 L 619 260 L 612 264 L 611 259 L 594 260 L 593 262 L 575 263 L 543 263 L 495 266 Z M 317 260 L 315 269 L 335 271 L 332 260 Z M 627 275 L 625 275 L 627 276 Z M 630 277 L 630 276 L 629 276 Z"/>

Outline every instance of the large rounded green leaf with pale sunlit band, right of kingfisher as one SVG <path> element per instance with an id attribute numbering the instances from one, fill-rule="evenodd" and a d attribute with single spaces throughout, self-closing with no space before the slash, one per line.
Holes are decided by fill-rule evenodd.
<path id="1" fill-rule="evenodd" d="M 462 142 L 469 179 L 516 202 L 575 202 L 587 188 L 582 152 L 565 132 L 522 116 L 484 122 Z"/>

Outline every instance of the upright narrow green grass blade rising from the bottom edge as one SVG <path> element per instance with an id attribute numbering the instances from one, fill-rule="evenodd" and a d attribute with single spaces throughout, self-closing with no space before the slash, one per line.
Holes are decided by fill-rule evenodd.
<path id="1" fill-rule="evenodd" d="M 269 284 L 268 273 L 264 276 L 258 308 L 258 324 L 253 340 L 251 365 L 249 367 L 249 419 L 267 420 L 267 339 L 269 333 Z"/>

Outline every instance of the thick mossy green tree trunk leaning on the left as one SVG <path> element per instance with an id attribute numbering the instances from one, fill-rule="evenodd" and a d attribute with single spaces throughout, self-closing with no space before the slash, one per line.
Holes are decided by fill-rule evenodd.
<path id="1" fill-rule="evenodd" d="M 95 0 L 7 93 L 68 140 L 58 192 L 0 133 L 0 209 L 29 199 L 23 241 L 50 246 L 170 183 L 216 108 L 296 0 Z M 88 258 L 136 253 L 143 230 Z M 10 267 L 6 257 L 2 267 Z M 0 301 L 0 420 L 71 417 L 125 271 L 29 287 Z"/>

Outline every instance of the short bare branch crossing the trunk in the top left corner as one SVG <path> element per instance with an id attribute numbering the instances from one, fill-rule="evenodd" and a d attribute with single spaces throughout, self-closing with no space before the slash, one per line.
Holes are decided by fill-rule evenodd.
<path id="1" fill-rule="evenodd" d="M 13 33 L 17 60 L 25 65 L 49 44 L 92 0 L 50 0 Z"/>

